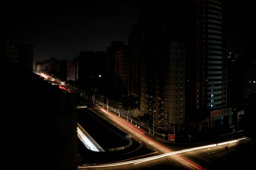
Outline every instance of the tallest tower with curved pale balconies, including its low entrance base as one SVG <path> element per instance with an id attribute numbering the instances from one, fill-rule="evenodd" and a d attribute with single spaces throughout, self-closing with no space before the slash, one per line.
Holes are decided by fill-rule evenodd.
<path id="1" fill-rule="evenodd" d="M 190 19 L 196 22 L 186 46 L 186 116 L 197 130 L 219 128 L 212 126 L 215 120 L 230 123 L 226 119 L 232 116 L 220 111 L 227 107 L 226 1 L 199 0 L 192 6 Z"/>

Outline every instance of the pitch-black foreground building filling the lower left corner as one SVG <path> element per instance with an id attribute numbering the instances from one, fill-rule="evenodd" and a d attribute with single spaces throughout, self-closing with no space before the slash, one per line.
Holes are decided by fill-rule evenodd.
<path id="1" fill-rule="evenodd" d="M 8 62 L 5 67 L 13 68 Z M 13 68 L 4 79 L 6 163 L 26 169 L 77 169 L 75 96 L 30 71 Z"/>

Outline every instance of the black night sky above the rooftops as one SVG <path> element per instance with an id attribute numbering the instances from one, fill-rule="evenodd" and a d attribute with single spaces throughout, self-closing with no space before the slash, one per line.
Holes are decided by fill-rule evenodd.
<path id="1" fill-rule="evenodd" d="M 227 4 L 227 52 L 246 56 L 252 25 L 248 4 Z M 13 2 L 6 4 L 4 16 L 7 32 L 35 47 L 34 62 L 72 60 L 81 51 L 106 51 L 111 41 L 127 45 L 131 26 L 138 22 L 138 1 Z"/>

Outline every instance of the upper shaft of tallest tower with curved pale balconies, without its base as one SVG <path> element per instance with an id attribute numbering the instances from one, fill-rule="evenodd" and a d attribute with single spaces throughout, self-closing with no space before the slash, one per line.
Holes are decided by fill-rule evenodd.
<path id="1" fill-rule="evenodd" d="M 225 4 L 221 0 L 196 3 L 196 110 L 226 107 Z"/>

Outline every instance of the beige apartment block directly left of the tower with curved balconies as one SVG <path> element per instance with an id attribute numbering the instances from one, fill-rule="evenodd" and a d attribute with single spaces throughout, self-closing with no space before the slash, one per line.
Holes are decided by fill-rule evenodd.
<path id="1" fill-rule="evenodd" d="M 185 45 L 152 38 L 142 45 L 140 112 L 154 116 L 156 126 L 180 130 L 185 118 Z"/>

